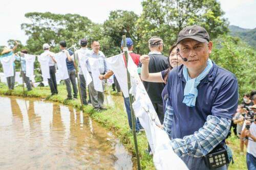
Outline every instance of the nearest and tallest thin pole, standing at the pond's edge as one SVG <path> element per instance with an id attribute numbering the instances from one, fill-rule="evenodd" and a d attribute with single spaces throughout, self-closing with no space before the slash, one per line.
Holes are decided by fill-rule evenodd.
<path id="1" fill-rule="evenodd" d="M 126 65 L 128 65 L 128 52 L 127 52 L 127 47 L 126 47 L 126 36 L 123 35 L 123 47 L 124 49 L 124 55 L 125 55 L 125 60 L 126 60 Z M 131 78 L 130 78 L 130 74 L 128 69 L 126 69 L 127 71 L 127 84 L 128 84 L 128 89 L 131 88 Z M 132 94 L 129 93 L 129 99 L 130 99 L 130 108 L 131 108 L 131 112 L 132 112 L 132 125 L 133 125 L 133 138 L 134 138 L 134 145 L 135 145 L 135 151 L 136 151 L 136 157 L 137 157 L 137 165 L 138 165 L 138 169 L 140 170 L 140 157 L 139 157 L 139 150 L 138 150 L 138 142 L 137 142 L 137 136 L 136 136 L 136 131 L 135 131 L 135 114 L 134 114 L 134 110 L 132 107 L 132 103 L 133 103 L 133 96 Z"/>

